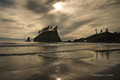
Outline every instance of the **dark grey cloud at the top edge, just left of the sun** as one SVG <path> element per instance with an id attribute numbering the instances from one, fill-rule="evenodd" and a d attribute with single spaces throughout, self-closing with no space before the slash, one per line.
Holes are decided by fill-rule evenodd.
<path id="1" fill-rule="evenodd" d="M 38 1 L 28 0 L 25 7 L 35 13 L 47 13 L 53 9 L 53 4 L 64 0 L 47 0 L 44 3 L 42 2 L 42 0 Z"/>

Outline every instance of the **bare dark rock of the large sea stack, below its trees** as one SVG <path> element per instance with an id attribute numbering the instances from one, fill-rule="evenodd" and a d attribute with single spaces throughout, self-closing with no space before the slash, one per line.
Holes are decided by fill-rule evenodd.
<path id="1" fill-rule="evenodd" d="M 57 30 L 46 30 L 40 33 L 37 37 L 35 37 L 34 41 L 35 42 L 62 42 L 58 35 Z"/>

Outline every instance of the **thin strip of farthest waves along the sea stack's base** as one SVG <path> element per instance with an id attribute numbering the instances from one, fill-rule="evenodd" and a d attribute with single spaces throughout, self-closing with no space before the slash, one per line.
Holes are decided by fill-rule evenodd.
<path id="1" fill-rule="evenodd" d="M 34 47 L 34 46 L 116 46 L 120 47 L 119 44 L 105 44 L 105 43 L 66 43 L 66 42 L 55 42 L 55 43 L 45 43 L 45 42 L 1 42 L 0 47 Z"/>

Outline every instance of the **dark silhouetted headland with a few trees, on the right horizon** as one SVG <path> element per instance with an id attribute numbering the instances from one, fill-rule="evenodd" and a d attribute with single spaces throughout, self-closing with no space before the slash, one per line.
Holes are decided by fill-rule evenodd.
<path id="1" fill-rule="evenodd" d="M 103 43 L 117 43 L 120 42 L 120 33 L 114 32 L 111 33 L 108 31 L 108 28 L 105 32 L 100 30 L 100 33 L 97 33 L 97 29 L 95 29 L 96 34 L 90 35 L 86 38 L 75 39 L 73 42 L 103 42 Z"/>

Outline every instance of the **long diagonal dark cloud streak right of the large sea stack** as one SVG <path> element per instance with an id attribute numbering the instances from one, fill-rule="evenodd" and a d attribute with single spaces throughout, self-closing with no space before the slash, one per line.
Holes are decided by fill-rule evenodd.
<path id="1" fill-rule="evenodd" d="M 80 28 L 81 26 L 87 24 L 87 23 L 90 23 L 94 20 L 96 20 L 97 18 L 92 18 L 92 19 L 88 19 L 88 20 L 85 20 L 85 21 L 79 21 L 79 22 L 74 22 L 70 27 L 67 27 L 65 29 L 65 31 L 62 31 L 60 32 L 61 35 L 67 35 L 73 31 L 75 31 L 76 29 Z"/>

